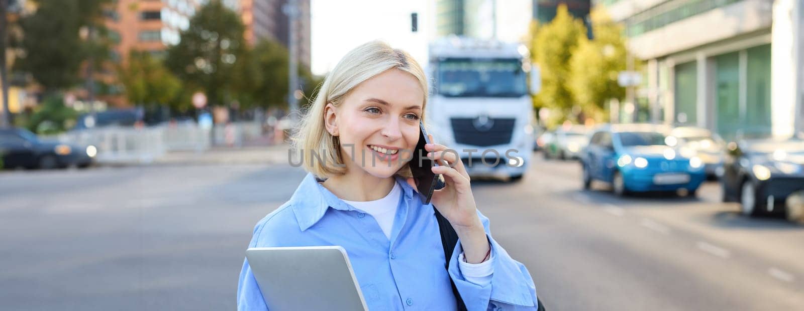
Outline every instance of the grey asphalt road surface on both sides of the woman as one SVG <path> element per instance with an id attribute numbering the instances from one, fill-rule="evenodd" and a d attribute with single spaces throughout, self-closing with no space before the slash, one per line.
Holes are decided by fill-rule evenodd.
<path id="1" fill-rule="evenodd" d="M 804 224 L 698 197 L 584 191 L 576 162 L 473 180 L 548 310 L 804 309 Z M 305 173 L 275 164 L 0 172 L 0 309 L 235 309 L 252 228 Z"/>

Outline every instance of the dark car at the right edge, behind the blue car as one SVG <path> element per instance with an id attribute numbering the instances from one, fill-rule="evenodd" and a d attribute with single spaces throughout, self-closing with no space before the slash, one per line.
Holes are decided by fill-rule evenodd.
<path id="1" fill-rule="evenodd" d="M 749 216 L 785 214 L 802 216 L 804 197 L 804 140 L 748 139 L 728 143 L 723 200 L 740 202 Z"/>

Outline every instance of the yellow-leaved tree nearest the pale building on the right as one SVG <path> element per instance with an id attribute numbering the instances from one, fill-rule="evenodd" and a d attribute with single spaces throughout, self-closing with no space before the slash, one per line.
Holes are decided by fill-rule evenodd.
<path id="1" fill-rule="evenodd" d="M 623 99 L 625 88 L 617 84 L 617 74 L 626 70 L 626 42 L 621 24 L 604 10 L 592 11 L 592 40 L 580 38 L 570 60 L 570 86 L 584 114 L 605 119 L 608 99 Z"/>

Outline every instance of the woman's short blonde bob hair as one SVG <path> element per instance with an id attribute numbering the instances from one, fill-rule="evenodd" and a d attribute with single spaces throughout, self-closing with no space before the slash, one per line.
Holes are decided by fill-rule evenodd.
<path id="1" fill-rule="evenodd" d="M 429 89 L 425 71 L 419 63 L 416 63 L 416 60 L 404 50 L 394 49 L 388 43 L 381 41 L 363 43 L 343 56 L 343 59 L 326 75 L 318 95 L 310 100 L 306 114 L 293 133 L 291 148 L 301 156 L 302 167 L 307 172 L 323 180 L 346 173 L 347 168 L 343 162 L 338 137 L 326 131 L 324 107 L 326 103 L 340 107 L 343 99 L 360 83 L 394 68 L 408 72 L 419 80 L 421 91 L 425 94 L 424 102 L 421 103 L 420 119 L 425 122 L 424 112 Z M 315 157 L 313 153 L 316 154 Z M 400 168 L 396 175 L 411 176 L 408 164 Z"/>

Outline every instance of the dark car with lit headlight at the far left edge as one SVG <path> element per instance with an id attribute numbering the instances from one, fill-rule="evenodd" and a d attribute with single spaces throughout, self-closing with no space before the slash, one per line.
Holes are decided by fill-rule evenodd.
<path id="1" fill-rule="evenodd" d="M 0 129 L 2 168 L 86 168 L 96 153 L 95 146 L 43 141 L 22 128 Z"/>

